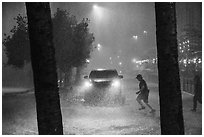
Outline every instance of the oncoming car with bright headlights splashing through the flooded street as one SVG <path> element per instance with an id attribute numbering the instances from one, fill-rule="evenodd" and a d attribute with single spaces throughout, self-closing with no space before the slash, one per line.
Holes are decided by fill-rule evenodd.
<path id="1" fill-rule="evenodd" d="M 123 76 L 116 69 L 92 70 L 84 76 L 84 101 L 89 104 L 124 104 Z"/>

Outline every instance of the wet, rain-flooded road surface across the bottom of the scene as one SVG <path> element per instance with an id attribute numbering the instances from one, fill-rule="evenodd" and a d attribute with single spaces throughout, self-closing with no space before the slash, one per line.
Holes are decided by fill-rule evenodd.
<path id="1" fill-rule="evenodd" d="M 69 135 L 157 135 L 160 134 L 160 109 L 157 84 L 147 83 L 150 89 L 149 103 L 156 112 L 151 114 L 146 107 L 135 101 L 138 82 L 124 80 L 126 103 L 123 106 L 87 106 L 70 103 L 66 92 L 61 92 L 61 109 L 64 134 Z M 192 96 L 183 93 L 185 134 L 202 134 L 202 106 L 191 112 Z M 33 93 L 5 94 L 2 97 L 2 133 L 38 134 L 35 99 Z"/>

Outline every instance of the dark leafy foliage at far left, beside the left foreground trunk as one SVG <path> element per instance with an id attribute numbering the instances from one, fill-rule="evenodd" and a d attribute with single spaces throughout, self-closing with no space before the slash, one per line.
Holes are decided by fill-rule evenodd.
<path id="1" fill-rule="evenodd" d="M 26 63 L 30 62 L 27 18 L 19 14 L 14 20 L 17 25 L 10 30 L 11 35 L 4 34 L 3 45 L 8 57 L 6 65 L 21 69 Z"/>

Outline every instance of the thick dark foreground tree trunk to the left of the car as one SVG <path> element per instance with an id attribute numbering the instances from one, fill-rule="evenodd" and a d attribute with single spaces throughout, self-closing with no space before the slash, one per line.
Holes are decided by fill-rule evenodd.
<path id="1" fill-rule="evenodd" d="M 26 3 L 38 132 L 63 134 L 49 3 Z"/>

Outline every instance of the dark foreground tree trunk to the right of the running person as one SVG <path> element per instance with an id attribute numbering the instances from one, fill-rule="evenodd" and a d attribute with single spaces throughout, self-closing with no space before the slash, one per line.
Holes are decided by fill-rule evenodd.
<path id="1" fill-rule="evenodd" d="M 155 3 L 161 134 L 184 134 L 175 3 Z"/>

